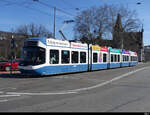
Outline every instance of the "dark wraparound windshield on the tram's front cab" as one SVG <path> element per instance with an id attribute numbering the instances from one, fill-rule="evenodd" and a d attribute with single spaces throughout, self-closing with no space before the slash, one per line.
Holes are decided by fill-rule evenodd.
<path id="1" fill-rule="evenodd" d="M 20 65 L 40 65 L 45 63 L 45 49 L 40 47 L 24 47 Z"/>

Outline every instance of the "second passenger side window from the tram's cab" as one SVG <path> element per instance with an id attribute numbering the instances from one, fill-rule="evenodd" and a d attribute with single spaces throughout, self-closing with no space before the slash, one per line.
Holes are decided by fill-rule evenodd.
<path id="1" fill-rule="evenodd" d="M 68 64 L 70 61 L 70 52 L 68 50 L 61 51 L 61 63 Z"/>

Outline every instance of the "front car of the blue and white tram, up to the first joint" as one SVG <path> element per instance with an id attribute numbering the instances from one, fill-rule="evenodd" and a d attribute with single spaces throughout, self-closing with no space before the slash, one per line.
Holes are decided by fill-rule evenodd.
<path id="1" fill-rule="evenodd" d="M 87 71 L 88 45 L 57 39 L 30 38 L 24 42 L 23 74 L 51 75 Z"/>

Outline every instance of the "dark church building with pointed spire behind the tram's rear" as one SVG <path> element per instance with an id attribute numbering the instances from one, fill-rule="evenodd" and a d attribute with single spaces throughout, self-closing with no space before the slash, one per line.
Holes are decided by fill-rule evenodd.
<path id="1" fill-rule="evenodd" d="M 118 14 L 113 29 L 112 47 L 137 52 L 138 61 L 144 61 L 143 27 L 139 32 L 126 32 L 122 27 L 121 16 Z"/>

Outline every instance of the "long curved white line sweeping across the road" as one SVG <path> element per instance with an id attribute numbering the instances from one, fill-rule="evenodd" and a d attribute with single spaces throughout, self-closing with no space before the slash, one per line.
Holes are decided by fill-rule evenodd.
<path id="1" fill-rule="evenodd" d="M 136 73 L 138 71 L 141 71 L 141 70 L 144 70 L 144 69 L 147 69 L 147 68 L 150 68 L 150 67 L 144 67 L 144 68 L 140 68 L 140 69 L 137 69 L 137 70 L 134 70 L 134 71 L 131 71 L 129 73 L 126 73 L 126 74 L 123 74 L 121 76 L 118 76 L 118 77 L 115 77 L 109 81 L 105 81 L 103 83 L 100 83 L 100 84 L 97 84 L 95 86 L 91 86 L 91 87 L 86 87 L 86 88 L 80 88 L 80 89 L 74 89 L 74 90 L 67 90 L 67 91 L 60 91 L 60 92 L 47 92 L 47 93 L 19 93 L 19 92 L 6 92 L 6 94 L 8 94 L 8 96 L 20 96 L 20 95 L 61 95 L 61 94 L 73 94 L 73 93 L 79 93 L 80 91 L 86 91 L 86 90 L 91 90 L 91 89 L 94 89 L 94 88 L 98 88 L 98 87 L 102 87 L 104 85 L 107 85 L 111 82 L 114 82 L 116 80 L 119 80 L 121 78 L 124 78 L 126 76 L 129 76 L 133 73 Z"/>

